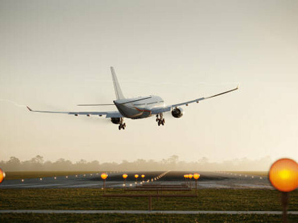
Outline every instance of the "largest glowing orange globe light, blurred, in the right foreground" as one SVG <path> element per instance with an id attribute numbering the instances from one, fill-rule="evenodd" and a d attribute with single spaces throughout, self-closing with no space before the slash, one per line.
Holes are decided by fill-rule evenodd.
<path id="1" fill-rule="evenodd" d="M 290 192 L 298 186 L 298 164 L 291 159 L 279 159 L 272 164 L 269 180 L 277 190 Z"/>

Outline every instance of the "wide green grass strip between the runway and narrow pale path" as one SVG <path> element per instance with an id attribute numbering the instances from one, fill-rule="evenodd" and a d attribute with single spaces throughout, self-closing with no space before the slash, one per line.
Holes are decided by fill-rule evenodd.
<path id="1" fill-rule="evenodd" d="M 192 191 L 194 192 L 194 191 Z M 100 189 L 1 189 L 0 209 L 148 210 L 147 197 L 102 197 Z M 130 193 L 108 189 L 108 194 Z M 153 193 L 145 192 L 144 193 Z M 164 192 L 182 193 L 182 192 Z M 190 193 L 190 192 L 183 192 Z M 153 210 L 280 211 L 280 192 L 269 189 L 201 189 L 198 197 L 152 198 Z M 288 210 L 298 211 L 298 190 Z"/>

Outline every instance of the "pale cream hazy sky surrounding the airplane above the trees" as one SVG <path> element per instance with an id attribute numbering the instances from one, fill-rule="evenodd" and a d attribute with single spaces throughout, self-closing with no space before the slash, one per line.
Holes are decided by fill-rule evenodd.
<path id="1" fill-rule="evenodd" d="M 0 1 L 0 160 L 298 159 L 298 1 Z M 167 104 L 238 91 L 167 115 L 30 113 L 126 97 Z M 5 100 L 4 100 L 5 99 Z"/>

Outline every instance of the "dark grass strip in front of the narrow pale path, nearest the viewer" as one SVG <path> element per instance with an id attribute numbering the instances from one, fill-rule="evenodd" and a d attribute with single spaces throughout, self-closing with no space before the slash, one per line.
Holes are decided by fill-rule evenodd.
<path id="1" fill-rule="evenodd" d="M 2 213 L 0 222 L 281 222 L 280 215 L 255 214 L 34 214 Z M 297 215 L 288 215 L 288 222 L 298 222 Z"/>

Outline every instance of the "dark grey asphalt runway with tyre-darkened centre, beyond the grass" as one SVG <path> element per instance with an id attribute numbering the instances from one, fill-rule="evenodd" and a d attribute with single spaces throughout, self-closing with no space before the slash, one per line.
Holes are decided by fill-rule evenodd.
<path id="1" fill-rule="evenodd" d="M 199 171 L 196 171 L 199 172 Z M 122 188 L 124 172 L 107 172 L 107 188 Z M 126 172 L 128 178 L 126 187 L 135 187 L 134 174 L 145 174 L 144 184 L 183 184 L 183 175 L 189 172 Z M 191 172 L 193 173 L 193 172 Z M 229 172 L 199 172 L 198 189 L 273 189 L 267 176 L 236 174 Z M 56 178 L 32 178 L 19 180 L 4 180 L 0 188 L 102 188 L 103 180 L 100 172 L 93 174 L 80 174 L 69 176 L 57 176 Z M 160 176 L 163 175 L 163 176 Z M 138 178 L 140 185 L 141 177 Z M 148 182 L 149 180 L 149 182 Z M 191 180 L 191 186 L 195 187 L 195 181 Z"/>

